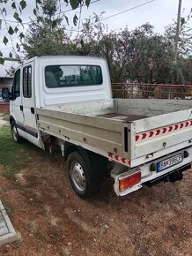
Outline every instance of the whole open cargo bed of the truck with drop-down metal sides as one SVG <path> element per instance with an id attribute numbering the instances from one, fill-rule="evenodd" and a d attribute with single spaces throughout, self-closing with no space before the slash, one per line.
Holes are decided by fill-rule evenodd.
<path id="1" fill-rule="evenodd" d="M 114 99 L 48 106 L 37 114 L 42 132 L 111 158 L 121 156 L 134 167 L 138 159 L 149 162 L 149 154 L 158 158 L 190 146 L 191 107 L 191 101 Z"/>

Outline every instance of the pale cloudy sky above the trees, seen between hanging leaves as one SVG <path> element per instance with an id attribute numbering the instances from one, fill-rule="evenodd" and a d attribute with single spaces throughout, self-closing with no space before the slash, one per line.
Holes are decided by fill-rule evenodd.
<path id="1" fill-rule="evenodd" d="M 17 2 L 19 1 L 17 0 Z M 34 17 L 34 2 L 34 0 L 26 0 L 27 6 L 21 15 L 21 19 L 23 19 L 24 23 L 30 22 L 30 18 L 33 19 Z M 118 32 L 126 26 L 129 30 L 133 30 L 137 26 L 141 26 L 144 23 L 149 22 L 152 26 L 154 26 L 154 31 L 156 33 L 163 33 L 165 26 L 173 23 L 174 19 L 177 19 L 179 4 L 179 0 L 92 0 L 91 2 L 92 4 L 90 4 L 88 9 L 86 6 L 82 8 L 81 22 L 89 16 L 92 16 L 93 12 L 100 15 L 102 11 L 105 11 L 102 14 L 102 22 L 108 26 L 109 31 L 113 30 L 114 32 Z M 8 12 L 6 19 L 14 21 L 12 17 L 13 11 L 10 4 L 11 0 L 9 0 L 9 3 L 6 5 Z M 73 25 L 72 18 L 75 14 L 77 14 L 79 17 L 79 9 L 75 11 L 67 11 L 70 9 L 70 5 L 66 6 L 64 0 L 61 0 L 61 4 L 62 11 L 66 11 L 65 15 L 67 15 L 70 19 L 70 26 L 67 26 L 67 28 L 77 30 L 78 27 Z M 182 0 L 182 16 L 187 17 L 190 13 L 191 17 L 191 9 L 192 1 Z M 118 14 L 119 12 L 122 13 Z M 114 15 L 114 17 L 109 18 L 112 15 Z M 13 22 L 9 22 L 9 24 L 12 26 L 15 25 Z M 189 20 L 189 25 L 192 27 L 192 18 Z M 24 27 L 27 29 L 28 25 L 26 24 Z M 75 36 L 77 33 L 77 31 L 72 31 L 73 36 Z M 11 41 L 9 41 L 7 46 L 2 43 L 5 34 L 6 29 L 3 21 L 0 28 L 0 50 L 2 50 L 4 56 L 8 56 L 11 49 Z M 13 44 L 15 45 L 17 38 L 13 36 L 12 39 Z"/>

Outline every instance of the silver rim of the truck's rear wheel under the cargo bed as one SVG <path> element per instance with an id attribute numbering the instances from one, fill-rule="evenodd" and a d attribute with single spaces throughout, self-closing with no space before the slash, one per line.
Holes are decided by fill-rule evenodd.
<path id="1" fill-rule="evenodd" d="M 73 162 L 71 165 L 70 177 L 79 191 L 85 191 L 85 173 L 79 162 Z"/>

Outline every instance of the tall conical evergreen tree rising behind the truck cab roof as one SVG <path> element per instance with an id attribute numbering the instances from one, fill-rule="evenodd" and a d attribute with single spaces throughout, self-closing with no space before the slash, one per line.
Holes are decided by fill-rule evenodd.
<path id="1" fill-rule="evenodd" d="M 26 56 L 62 55 L 71 52 L 70 37 L 65 34 L 65 27 L 61 26 L 62 18 L 55 18 L 57 3 L 46 0 L 41 4 L 42 15 L 31 20 L 23 47 Z"/>

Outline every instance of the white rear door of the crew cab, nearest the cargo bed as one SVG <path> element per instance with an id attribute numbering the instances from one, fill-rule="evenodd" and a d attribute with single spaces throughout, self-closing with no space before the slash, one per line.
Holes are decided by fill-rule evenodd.
<path id="1" fill-rule="evenodd" d="M 37 129 L 33 67 L 33 63 L 23 66 L 23 113 L 26 139 L 36 146 L 43 148 L 40 132 Z"/>

